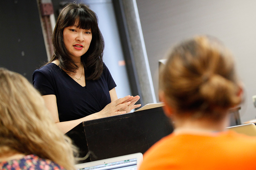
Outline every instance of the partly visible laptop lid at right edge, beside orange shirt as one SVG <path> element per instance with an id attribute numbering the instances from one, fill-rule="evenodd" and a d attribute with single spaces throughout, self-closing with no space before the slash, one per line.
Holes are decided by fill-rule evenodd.
<path id="1" fill-rule="evenodd" d="M 248 136 L 256 136 L 256 125 L 254 123 L 231 126 L 227 127 L 227 129 L 233 130 L 237 133 L 246 134 Z"/>

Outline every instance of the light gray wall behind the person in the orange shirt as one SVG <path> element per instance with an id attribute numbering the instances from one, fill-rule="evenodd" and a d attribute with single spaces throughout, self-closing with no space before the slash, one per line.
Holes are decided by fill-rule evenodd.
<path id="1" fill-rule="evenodd" d="M 137 6 L 156 96 L 158 60 L 182 39 L 209 34 L 221 39 L 235 56 L 245 87 L 241 120 L 255 118 L 256 1 L 137 0 Z"/>

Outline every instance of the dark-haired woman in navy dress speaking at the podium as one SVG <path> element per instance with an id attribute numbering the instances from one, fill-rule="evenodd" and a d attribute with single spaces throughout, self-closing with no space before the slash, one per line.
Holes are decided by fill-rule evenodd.
<path id="1" fill-rule="evenodd" d="M 83 4 L 68 4 L 53 32 L 54 55 L 34 71 L 33 85 L 66 133 L 82 121 L 128 113 L 139 96 L 118 99 L 103 63 L 104 40 L 97 15 Z"/>

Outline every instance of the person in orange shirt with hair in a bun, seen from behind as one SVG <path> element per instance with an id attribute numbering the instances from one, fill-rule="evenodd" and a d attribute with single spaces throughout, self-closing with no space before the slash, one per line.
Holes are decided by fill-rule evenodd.
<path id="1" fill-rule="evenodd" d="M 159 97 L 175 129 L 144 154 L 140 170 L 256 169 L 256 137 L 225 130 L 242 87 L 233 56 L 219 40 L 183 41 L 160 75 Z"/>

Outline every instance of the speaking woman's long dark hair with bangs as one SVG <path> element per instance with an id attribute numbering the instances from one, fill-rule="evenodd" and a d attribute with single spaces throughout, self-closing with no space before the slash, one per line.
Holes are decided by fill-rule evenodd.
<path id="1" fill-rule="evenodd" d="M 78 25 L 75 25 L 77 21 Z M 81 56 L 81 62 L 85 70 L 90 73 L 86 79 L 97 80 L 103 71 L 104 40 L 98 27 L 97 15 L 84 4 L 70 3 L 62 9 L 52 37 L 54 55 L 48 63 L 58 59 L 59 67 L 63 70 L 75 72 L 78 68 L 63 41 L 64 28 L 74 25 L 81 29 L 91 29 L 92 40 L 87 52 Z"/>

